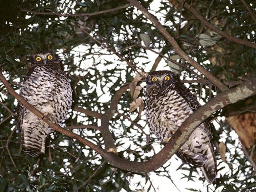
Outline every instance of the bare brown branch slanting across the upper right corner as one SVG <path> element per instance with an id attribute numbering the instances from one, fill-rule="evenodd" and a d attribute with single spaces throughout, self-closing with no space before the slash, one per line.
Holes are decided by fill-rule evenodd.
<path id="1" fill-rule="evenodd" d="M 180 4 L 183 4 L 184 3 L 184 0 L 177 0 Z M 131 1 L 130 1 L 131 2 Z M 220 36 L 222 37 L 225 37 L 226 39 L 228 39 L 229 41 L 233 41 L 235 43 L 239 43 L 239 44 L 242 44 L 242 45 L 246 45 L 248 47 L 252 47 L 254 49 L 256 49 L 256 44 L 255 43 L 252 43 L 250 41 L 246 41 L 246 40 L 243 40 L 243 39 L 239 39 L 239 38 L 236 38 L 236 37 L 233 37 L 231 36 L 230 34 L 218 29 L 217 27 L 213 26 L 211 23 L 209 23 L 203 16 L 201 16 L 197 10 L 192 7 L 189 3 L 186 3 L 184 4 L 184 7 L 186 9 L 188 9 L 199 21 L 201 21 L 205 26 L 207 26 L 208 28 L 212 29 L 213 31 L 215 31 L 217 34 L 219 34 Z"/>

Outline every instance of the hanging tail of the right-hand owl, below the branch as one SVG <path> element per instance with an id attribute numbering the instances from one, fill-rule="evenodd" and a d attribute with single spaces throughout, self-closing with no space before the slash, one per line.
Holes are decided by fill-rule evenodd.
<path id="1" fill-rule="evenodd" d="M 208 143 L 207 158 L 204 166 L 200 167 L 208 183 L 212 183 L 217 176 L 217 163 L 212 146 Z"/>

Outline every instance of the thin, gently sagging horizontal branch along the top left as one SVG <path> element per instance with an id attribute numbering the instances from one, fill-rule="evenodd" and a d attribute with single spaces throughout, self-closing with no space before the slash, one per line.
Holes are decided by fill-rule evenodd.
<path id="1" fill-rule="evenodd" d="M 33 13 L 35 15 L 54 15 L 54 16 L 57 16 L 57 17 L 81 17 L 81 16 L 93 16 L 93 15 L 100 15 L 100 14 L 104 14 L 104 13 L 115 12 L 117 10 L 127 8 L 129 6 L 131 6 L 131 5 L 126 4 L 126 5 L 122 5 L 122 6 L 115 7 L 115 8 L 108 9 L 108 10 L 102 10 L 102 11 L 93 12 L 93 13 L 81 13 L 81 14 L 43 13 L 43 12 L 35 12 L 35 11 L 32 11 L 32 10 L 27 10 L 27 9 L 22 9 L 22 11 L 28 12 L 28 13 Z"/>

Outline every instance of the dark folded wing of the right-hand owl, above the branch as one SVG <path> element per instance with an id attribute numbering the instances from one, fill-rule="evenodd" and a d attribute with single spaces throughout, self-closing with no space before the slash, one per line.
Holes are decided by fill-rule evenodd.
<path id="1" fill-rule="evenodd" d="M 180 96 L 189 104 L 189 106 L 195 111 L 201 105 L 197 101 L 195 95 L 193 95 L 183 83 L 175 84 L 176 90 L 179 92 Z"/>

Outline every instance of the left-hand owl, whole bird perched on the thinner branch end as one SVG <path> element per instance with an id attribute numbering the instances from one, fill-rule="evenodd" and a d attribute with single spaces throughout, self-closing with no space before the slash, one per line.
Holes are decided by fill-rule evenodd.
<path id="1" fill-rule="evenodd" d="M 61 69 L 61 60 L 51 51 L 42 51 L 31 56 L 31 69 L 23 82 L 20 95 L 60 124 L 66 119 L 72 104 L 72 90 L 68 77 Z M 47 135 L 54 132 L 43 120 L 18 104 L 18 129 L 21 148 L 30 156 L 45 152 Z"/>

